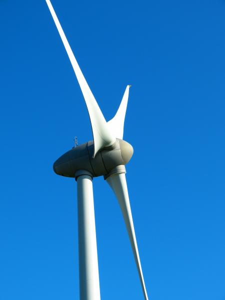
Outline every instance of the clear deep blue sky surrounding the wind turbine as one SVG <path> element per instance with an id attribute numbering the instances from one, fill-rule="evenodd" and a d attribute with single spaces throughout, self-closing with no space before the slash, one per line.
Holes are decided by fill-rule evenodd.
<path id="1" fill-rule="evenodd" d="M 152 300 L 225 300 L 224 0 L 52 0 L 108 120 L 126 84 L 127 184 Z M 78 298 L 76 184 L 91 139 L 44 0 L 0 1 L 0 300 Z M 143 299 L 118 204 L 93 180 L 101 298 Z"/>

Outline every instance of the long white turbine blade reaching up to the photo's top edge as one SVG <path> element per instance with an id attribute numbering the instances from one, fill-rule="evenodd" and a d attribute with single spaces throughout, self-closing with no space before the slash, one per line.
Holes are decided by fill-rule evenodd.
<path id="1" fill-rule="evenodd" d="M 62 30 L 62 27 L 58 21 L 58 18 L 54 12 L 54 9 L 51 5 L 50 0 L 46 0 L 47 6 L 50 10 L 50 13 L 53 17 L 55 25 L 58 29 L 58 33 L 61 37 L 61 40 L 64 44 L 65 50 L 68 54 L 69 60 L 72 64 L 73 70 L 75 72 L 76 78 L 78 80 L 79 86 L 83 93 L 83 97 L 87 106 L 87 110 L 90 117 L 92 132 L 93 132 L 93 139 L 94 139 L 94 153 L 93 157 L 97 153 L 98 150 L 105 146 L 112 145 L 115 142 L 115 136 L 111 133 L 110 129 L 108 128 L 107 122 L 79 68 L 79 65 L 72 53 L 72 50 L 69 46 L 69 43 L 65 37 L 65 34 Z"/>

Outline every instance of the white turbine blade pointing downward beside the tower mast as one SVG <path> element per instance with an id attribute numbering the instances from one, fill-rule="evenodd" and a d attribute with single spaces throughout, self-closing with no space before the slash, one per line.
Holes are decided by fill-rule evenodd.
<path id="1" fill-rule="evenodd" d="M 132 214 L 131 214 L 131 209 L 130 209 L 130 204 L 129 204 L 129 196 L 128 196 L 128 191 L 127 191 L 127 185 L 126 185 L 126 177 L 124 173 L 118 173 L 111 175 L 107 177 L 106 181 L 108 184 L 111 186 L 113 192 L 116 195 L 116 198 L 119 202 L 119 206 L 122 211 L 122 215 L 126 224 L 126 229 L 127 233 L 129 236 L 129 240 L 131 243 L 134 259 L 136 262 L 136 267 L 137 271 L 139 274 L 140 278 L 140 283 L 142 286 L 143 294 L 145 300 L 148 300 L 147 297 L 147 292 L 144 284 L 144 279 L 143 279 L 143 274 L 142 274 L 142 269 L 140 265 L 140 258 L 139 258 L 139 253 L 137 249 L 137 243 L 136 243 L 136 237 L 135 237 L 135 232 L 134 232 L 134 227 L 133 227 L 133 220 L 132 220 Z"/>

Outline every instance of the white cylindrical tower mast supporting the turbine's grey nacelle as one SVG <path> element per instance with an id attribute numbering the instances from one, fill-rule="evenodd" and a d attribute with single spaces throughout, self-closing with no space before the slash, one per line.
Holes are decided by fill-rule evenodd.
<path id="1" fill-rule="evenodd" d="M 88 173 L 88 172 L 86 172 Z M 77 178 L 79 298 L 100 300 L 92 177 Z"/>

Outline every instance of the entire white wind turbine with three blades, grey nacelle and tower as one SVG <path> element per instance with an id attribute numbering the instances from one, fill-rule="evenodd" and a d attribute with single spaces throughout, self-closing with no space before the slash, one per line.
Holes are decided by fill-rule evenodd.
<path id="1" fill-rule="evenodd" d="M 106 122 L 72 53 L 50 0 L 46 0 L 81 88 L 92 127 L 93 140 L 61 155 L 53 164 L 56 174 L 74 177 L 77 182 L 79 294 L 80 300 L 99 300 L 99 276 L 94 220 L 92 178 L 104 176 L 115 193 L 125 221 L 145 300 L 144 284 L 125 178 L 125 164 L 133 154 L 123 140 L 123 125 L 130 85 L 126 86 L 115 116 Z"/>

